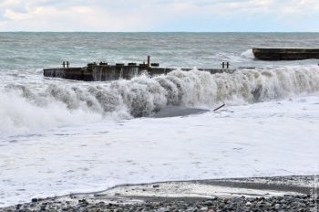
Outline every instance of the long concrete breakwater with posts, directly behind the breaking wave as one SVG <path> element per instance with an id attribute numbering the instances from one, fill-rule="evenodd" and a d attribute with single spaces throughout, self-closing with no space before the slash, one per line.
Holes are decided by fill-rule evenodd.
<path id="1" fill-rule="evenodd" d="M 67 63 L 68 64 L 68 63 Z M 229 65 L 229 63 L 227 63 Z M 227 65 L 227 67 L 228 67 Z M 201 71 L 208 71 L 211 74 L 228 72 L 232 73 L 234 69 L 227 69 L 226 63 L 223 63 L 224 69 L 199 69 Z M 85 81 L 106 81 L 106 80 L 130 80 L 143 73 L 148 74 L 150 77 L 167 74 L 174 68 L 161 68 L 159 63 L 117 63 L 109 65 L 108 63 L 89 63 L 87 67 L 82 68 L 57 68 L 57 69 L 44 69 L 45 77 L 62 78 L 67 80 L 85 80 Z M 189 71 L 189 68 L 181 70 Z"/>

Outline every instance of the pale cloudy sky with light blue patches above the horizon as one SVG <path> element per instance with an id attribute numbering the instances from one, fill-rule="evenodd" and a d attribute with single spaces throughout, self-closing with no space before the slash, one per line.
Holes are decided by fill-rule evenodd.
<path id="1" fill-rule="evenodd" d="M 0 0 L 0 31 L 319 31 L 319 0 Z"/>

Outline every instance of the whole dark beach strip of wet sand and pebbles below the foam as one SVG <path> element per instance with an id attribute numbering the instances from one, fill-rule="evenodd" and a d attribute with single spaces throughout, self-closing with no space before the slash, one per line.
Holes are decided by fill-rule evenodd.
<path id="1" fill-rule="evenodd" d="M 167 181 L 33 198 L 0 211 L 309 211 L 318 208 L 316 186 L 314 175 Z"/>

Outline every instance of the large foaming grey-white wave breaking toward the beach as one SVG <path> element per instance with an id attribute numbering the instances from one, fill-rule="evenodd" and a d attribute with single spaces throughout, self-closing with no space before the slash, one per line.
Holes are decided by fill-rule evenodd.
<path id="1" fill-rule="evenodd" d="M 238 69 L 211 75 L 193 69 L 88 86 L 8 84 L 0 94 L 0 132 L 26 131 L 103 119 L 149 116 L 168 105 L 214 107 L 287 98 L 319 91 L 319 68 Z"/>

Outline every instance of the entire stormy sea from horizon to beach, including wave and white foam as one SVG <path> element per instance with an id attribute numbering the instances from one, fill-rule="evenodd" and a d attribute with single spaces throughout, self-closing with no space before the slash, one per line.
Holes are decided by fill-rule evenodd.
<path id="1" fill-rule="evenodd" d="M 0 207 L 124 184 L 319 174 L 319 60 L 252 54 L 318 45 L 319 33 L 0 33 Z M 62 61 L 148 55 L 176 70 L 43 76 Z M 235 71 L 199 70 L 222 62 Z"/>

